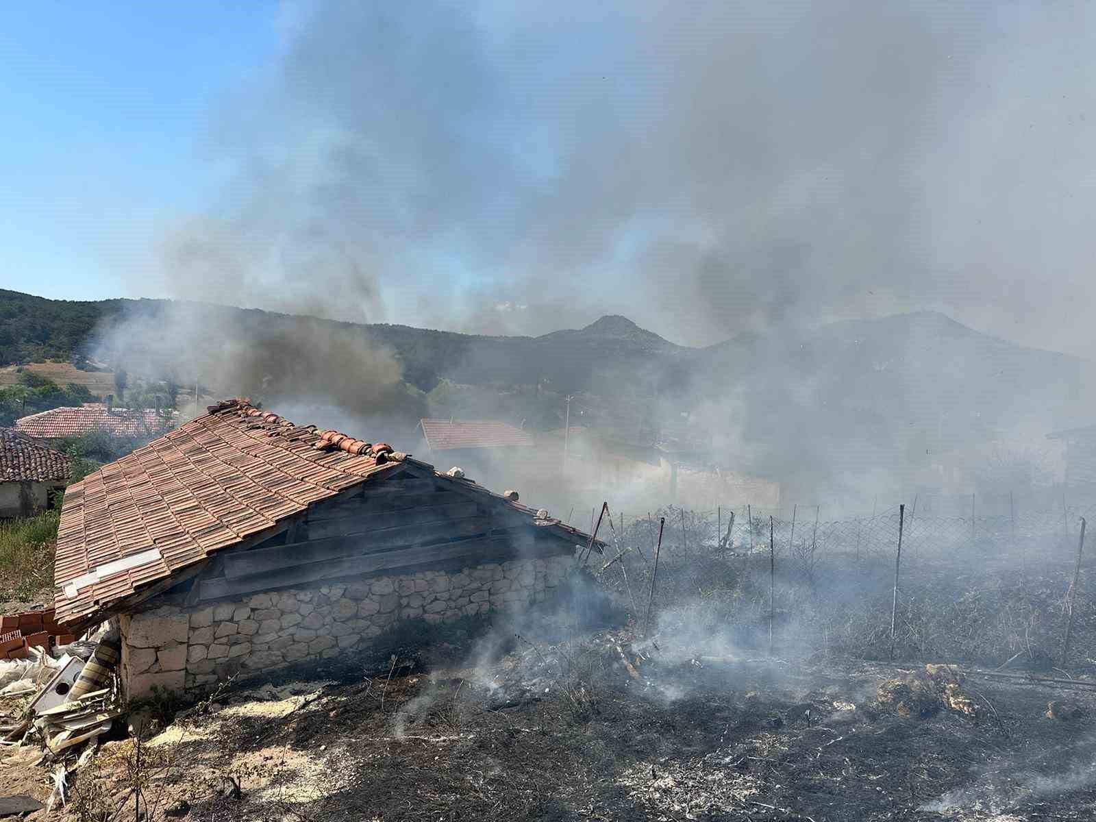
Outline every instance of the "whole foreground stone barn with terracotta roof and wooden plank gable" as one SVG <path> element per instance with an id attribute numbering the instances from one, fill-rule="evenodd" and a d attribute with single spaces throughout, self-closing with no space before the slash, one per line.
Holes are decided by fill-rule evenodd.
<path id="1" fill-rule="evenodd" d="M 117 619 L 130 697 L 193 693 L 353 657 L 400 620 L 525 609 L 587 540 L 383 443 L 228 400 L 69 487 L 56 619 Z"/>

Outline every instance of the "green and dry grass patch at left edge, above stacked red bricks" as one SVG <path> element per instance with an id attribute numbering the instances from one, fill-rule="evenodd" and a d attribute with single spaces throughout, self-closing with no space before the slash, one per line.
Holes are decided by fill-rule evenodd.
<path id="1" fill-rule="evenodd" d="M 0 523 L 0 601 L 49 596 L 59 511 Z"/>

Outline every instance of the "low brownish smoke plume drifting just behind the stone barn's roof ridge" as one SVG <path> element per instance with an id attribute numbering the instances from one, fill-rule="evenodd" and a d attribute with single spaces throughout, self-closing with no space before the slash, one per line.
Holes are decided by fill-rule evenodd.
<path id="1" fill-rule="evenodd" d="M 242 319 L 241 319 L 242 313 Z M 402 443 L 425 410 L 359 327 L 196 302 L 138 302 L 100 330 L 96 356 L 205 401 L 248 396 L 293 422 Z M 202 401 L 201 398 L 205 398 Z M 183 404 L 184 410 L 189 410 Z"/>

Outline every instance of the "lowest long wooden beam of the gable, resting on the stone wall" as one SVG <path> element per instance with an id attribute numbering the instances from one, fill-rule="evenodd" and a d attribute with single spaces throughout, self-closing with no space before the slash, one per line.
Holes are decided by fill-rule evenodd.
<path id="1" fill-rule="evenodd" d="M 503 537 L 475 537 L 442 545 L 419 546 L 396 551 L 355 555 L 329 559 L 321 562 L 293 568 L 270 570 L 247 576 L 226 578 L 221 580 L 203 580 L 203 601 L 219 600 L 225 596 L 238 596 L 270 591 L 272 589 L 299 585 L 317 580 L 336 576 L 353 576 L 372 574 L 411 566 L 433 564 L 467 557 L 482 558 L 482 561 L 498 561 L 502 556 L 514 553 L 509 541 Z"/>

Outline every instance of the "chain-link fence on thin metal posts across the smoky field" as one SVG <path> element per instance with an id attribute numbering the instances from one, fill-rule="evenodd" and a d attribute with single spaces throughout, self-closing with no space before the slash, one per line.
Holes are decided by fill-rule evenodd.
<path id="1" fill-rule="evenodd" d="M 777 513 L 609 510 L 597 532 L 608 547 L 589 568 L 637 620 L 646 625 L 650 613 L 652 630 L 660 615 L 677 613 L 697 629 L 694 637 L 712 630 L 754 648 L 775 636 L 778 650 L 1003 661 L 1024 649 L 1059 652 L 1081 518 L 1092 521 L 1096 504 L 975 517 L 922 515 L 912 505 L 837 521 L 823 520 L 817 506 Z M 1093 549 L 1085 550 L 1078 601 L 1089 598 Z M 1077 625 L 1091 644 L 1096 612 L 1085 608 Z"/>

